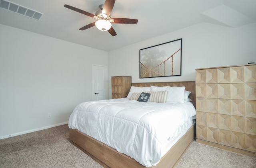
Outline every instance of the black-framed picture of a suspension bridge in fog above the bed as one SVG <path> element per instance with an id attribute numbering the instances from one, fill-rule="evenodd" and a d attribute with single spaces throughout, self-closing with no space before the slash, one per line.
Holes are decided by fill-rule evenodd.
<path id="1" fill-rule="evenodd" d="M 181 76 L 182 39 L 140 49 L 140 78 Z"/>

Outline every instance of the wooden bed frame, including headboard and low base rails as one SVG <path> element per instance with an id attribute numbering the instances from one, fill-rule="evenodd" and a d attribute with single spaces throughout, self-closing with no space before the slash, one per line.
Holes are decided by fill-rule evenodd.
<path id="1" fill-rule="evenodd" d="M 154 82 L 154 83 L 132 83 L 132 86 L 185 86 L 191 92 L 189 98 L 195 106 L 196 86 L 195 81 L 188 82 Z M 96 160 L 104 168 L 146 168 L 126 154 L 117 152 L 114 148 L 97 141 L 96 139 L 76 130 L 70 129 L 70 142 Z M 195 124 L 190 127 L 185 135 L 161 158 L 156 166 L 151 168 L 172 168 L 178 164 L 190 144 L 194 141 L 196 131 Z"/>

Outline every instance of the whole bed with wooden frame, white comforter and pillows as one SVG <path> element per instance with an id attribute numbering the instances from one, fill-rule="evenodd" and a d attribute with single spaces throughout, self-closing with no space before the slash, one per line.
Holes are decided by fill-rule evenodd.
<path id="1" fill-rule="evenodd" d="M 183 132 L 177 132 L 178 127 L 176 128 L 174 125 L 168 125 L 168 128 L 173 129 L 163 129 L 164 127 L 161 127 L 161 125 L 165 125 L 164 120 L 161 119 L 162 122 L 154 122 L 152 118 L 157 120 L 159 116 L 158 113 L 161 113 L 161 116 L 164 116 L 165 114 L 169 115 L 169 113 L 166 113 L 166 110 L 169 110 L 168 108 L 177 109 L 178 107 L 176 107 L 176 105 L 180 103 L 173 103 L 173 105 L 169 105 L 170 102 L 168 97 L 165 97 L 161 100 L 151 99 L 149 102 L 144 103 L 136 101 L 140 95 L 137 95 L 137 97 L 135 96 L 135 92 L 138 87 L 150 88 L 151 90 L 145 90 L 145 92 L 148 91 L 151 96 L 156 93 L 166 95 L 166 93 L 163 92 L 166 91 L 166 89 L 162 90 L 164 86 L 172 86 L 169 88 L 184 88 L 186 90 L 185 92 L 190 92 L 188 96 L 189 101 L 184 101 L 184 105 L 182 105 L 181 108 L 187 108 L 187 106 L 195 105 L 194 81 L 132 83 L 132 88 L 127 98 L 104 100 L 100 102 L 86 102 L 78 105 L 70 116 L 70 142 L 76 147 L 80 148 L 105 168 L 174 167 L 180 160 L 182 154 L 186 151 L 186 149 L 195 138 L 194 120 L 193 122 L 190 120 L 187 122 L 187 119 L 185 119 L 186 122 L 184 122 L 180 121 L 181 119 L 175 119 L 173 117 L 173 119 L 170 120 L 171 122 L 168 122 L 169 120 L 167 120 L 166 124 L 186 123 L 186 126 L 184 126 L 185 124 L 182 126 L 184 127 Z M 141 90 L 137 92 L 140 93 L 140 91 Z M 172 90 L 168 91 L 169 93 L 172 92 Z M 142 90 L 142 92 L 144 92 L 144 90 Z M 174 94 L 174 92 L 172 92 L 172 94 Z M 152 98 L 154 98 L 154 96 L 152 96 Z M 177 100 L 179 99 L 177 96 L 175 98 Z M 167 101 L 168 103 L 161 101 Z M 158 105 L 161 105 L 161 108 L 159 109 L 162 111 L 155 112 L 155 108 L 158 108 Z M 96 109 L 92 107 L 96 107 Z M 140 110 L 136 112 L 134 108 Z M 117 111 L 115 111 L 115 109 L 117 109 Z M 84 111 L 86 111 L 86 113 Z M 102 113 L 102 111 L 105 111 L 107 114 L 105 112 Z M 121 114 L 124 115 L 124 118 L 120 117 Z M 135 117 L 130 117 L 128 114 L 132 114 L 132 116 Z M 185 113 L 185 115 L 187 114 Z M 193 118 L 193 115 L 195 115 L 195 110 L 190 112 L 189 115 L 189 118 Z M 86 120 L 87 117 L 90 117 L 91 119 Z M 107 120 L 103 120 L 105 117 L 107 117 Z M 148 123 L 146 123 L 148 119 L 150 123 L 155 123 L 155 126 L 148 125 Z M 128 123 L 126 122 L 123 124 L 124 121 L 127 121 Z M 138 121 L 138 123 L 135 123 L 135 121 Z M 114 125 L 113 123 L 117 123 L 122 126 L 110 127 L 109 125 Z M 157 125 L 156 123 L 163 124 Z M 95 128 L 93 125 L 102 125 L 102 128 Z M 133 126 L 134 128 L 132 128 Z M 92 128 L 89 129 L 88 127 Z M 130 128 L 135 131 L 129 131 Z M 140 129 L 143 133 L 137 131 Z M 168 133 L 176 134 L 177 136 L 175 136 L 175 138 L 178 137 L 178 139 L 174 139 L 174 136 L 172 137 L 170 135 L 166 136 L 165 134 L 159 134 L 163 132 L 161 130 L 167 130 L 169 131 Z M 96 132 L 98 134 L 96 134 Z M 122 141 L 116 141 L 118 138 L 120 138 Z M 140 140 L 145 141 L 145 139 L 150 141 L 147 141 L 144 143 L 144 145 L 142 145 Z M 166 139 L 168 139 L 168 141 Z M 124 144 L 122 145 L 122 143 Z M 163 146 L 163 144 L 166 146 Z"/>

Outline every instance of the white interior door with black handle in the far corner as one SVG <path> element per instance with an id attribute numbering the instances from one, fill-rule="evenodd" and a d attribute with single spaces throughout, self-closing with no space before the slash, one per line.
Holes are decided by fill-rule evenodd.
<path id="1" fill-rule="evenodd" d="M 105 100 L 108 97 L 108 67 L 92 65 L 92 90 L 94 100 Z"/>

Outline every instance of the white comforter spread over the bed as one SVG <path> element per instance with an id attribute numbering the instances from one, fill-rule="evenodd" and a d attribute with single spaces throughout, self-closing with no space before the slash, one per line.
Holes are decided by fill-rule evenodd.
<path id="1" fill-rule="evenodd" d="M 144 103 L 122 98 L 77 105 L 68 126 L 149 167 L 186 132 L 194 115 L 190 102 Z"/>

